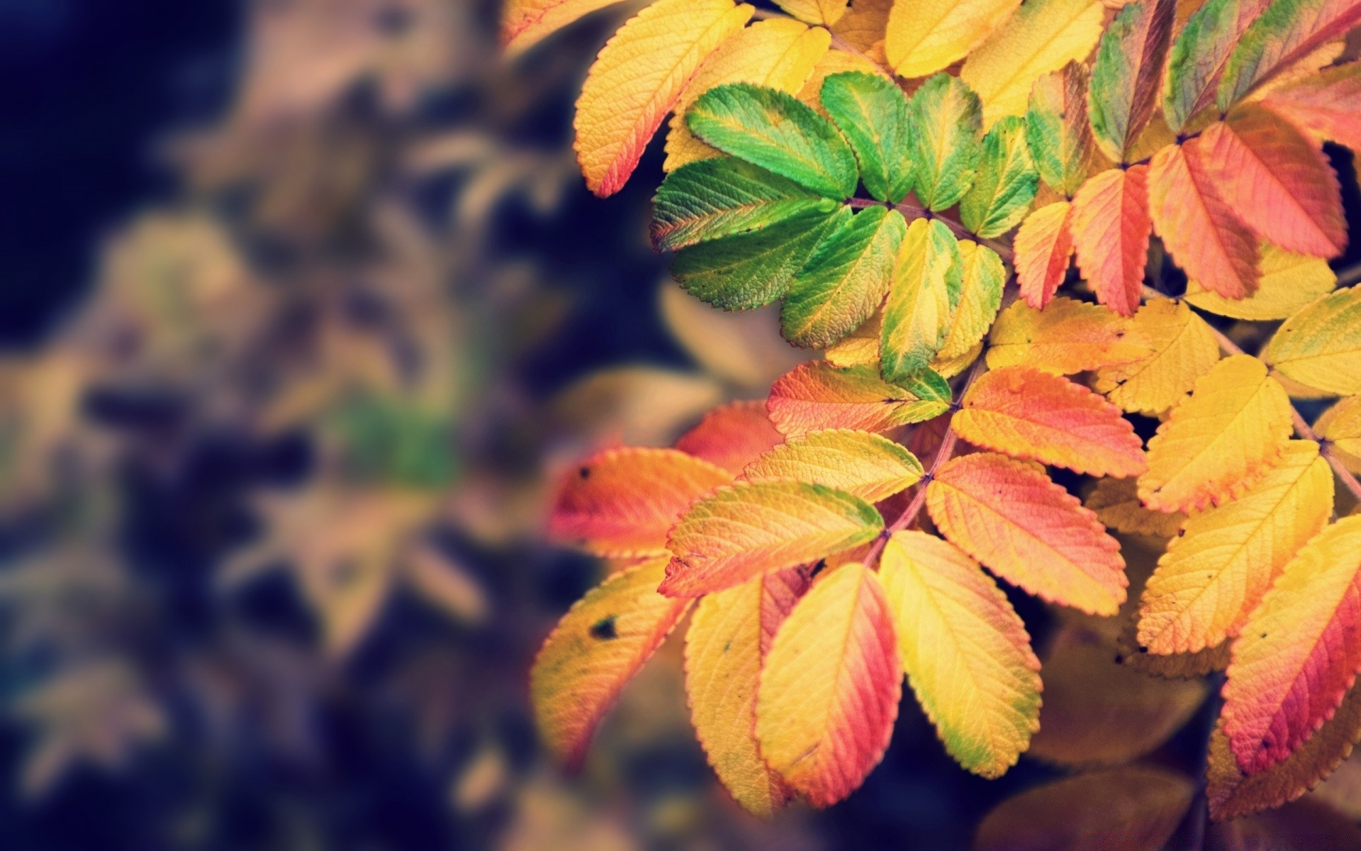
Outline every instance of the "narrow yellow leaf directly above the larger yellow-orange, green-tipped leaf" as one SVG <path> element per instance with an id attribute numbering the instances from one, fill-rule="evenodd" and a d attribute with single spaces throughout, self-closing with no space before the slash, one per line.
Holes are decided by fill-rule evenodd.
<path id="1" fill-rule="evenodd" d="M 791 437 L 742 471 L 749 482 L 795 479 L 878 502 L 921 479 L 921 463 L 887 437 L 825 429 Z"/>

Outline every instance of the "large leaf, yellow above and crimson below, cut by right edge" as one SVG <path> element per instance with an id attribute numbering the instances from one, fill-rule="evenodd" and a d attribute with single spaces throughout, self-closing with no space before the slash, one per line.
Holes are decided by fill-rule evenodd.
<path id="1" fill-rule="evenodd" d="M 1361 516 L 1285 566 L 1233 645 L 1224 731 L 1252 775 L 1285 761 L 1334 716 L 1361 669 Z"/>

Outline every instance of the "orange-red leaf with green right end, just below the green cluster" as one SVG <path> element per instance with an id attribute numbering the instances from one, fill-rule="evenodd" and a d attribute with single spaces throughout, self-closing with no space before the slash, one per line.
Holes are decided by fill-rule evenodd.
<path id="1" fill-rule="evenodd" d="M 768 410 L 776 428 L 791 437 L 815 429 L 887 432 L 949 410 L 950 385 L 934 373 L 917 379 L 909 388 L 886 383 L 878 366 L 838 369 L 814 361 L 774 383 Z"/>

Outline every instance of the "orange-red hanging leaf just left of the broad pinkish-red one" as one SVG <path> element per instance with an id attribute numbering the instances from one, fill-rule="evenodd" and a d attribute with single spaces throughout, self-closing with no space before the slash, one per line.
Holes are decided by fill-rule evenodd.
<path id="1" fill-rule="evenodd" d="M 1225 298 L 1244 298 L 1258 289 L 1258 241 L 1210 185 L 1199 144 L 1169 144 L 1153 157 L 1153 230 L 1188 278 Z"/>

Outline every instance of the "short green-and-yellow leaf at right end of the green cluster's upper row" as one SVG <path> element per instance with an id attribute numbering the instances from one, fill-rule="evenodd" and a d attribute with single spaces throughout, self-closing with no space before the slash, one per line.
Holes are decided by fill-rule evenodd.
<path id="1" fill-rule="evenodd" d="M 960 200 L 960 221 L 980 237 L 1003 234 L 1025 218 L 1038 187 L 1025 118 L 1006 116 L 983 138 L 979 174 Z"/>

